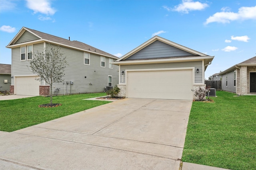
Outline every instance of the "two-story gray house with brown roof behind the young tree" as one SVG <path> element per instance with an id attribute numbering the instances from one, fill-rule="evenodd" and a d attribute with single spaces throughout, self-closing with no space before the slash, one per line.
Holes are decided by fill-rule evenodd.
<path id="1" fill-rule="evenodd" d="M 44 80 L 35 80 L 38 75 L 33 74 L 30 68 L 34 54 L 47 47 L 60 47 L 68 62 L 64 81 L 53 84 L 53 94 L 104 92 L 106 86 L 118 84 L 118 66 L 111 64 L 118 57 L 79 41 L 22 27 L 6 47 L 12 49 L 12 94 L 49 94 L 49 85 Z"/>

